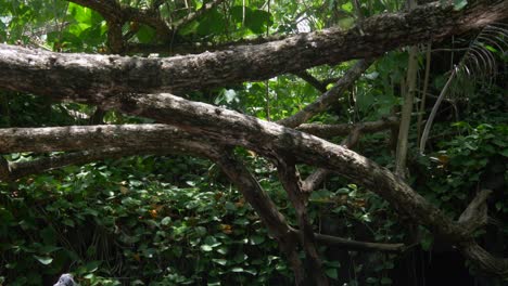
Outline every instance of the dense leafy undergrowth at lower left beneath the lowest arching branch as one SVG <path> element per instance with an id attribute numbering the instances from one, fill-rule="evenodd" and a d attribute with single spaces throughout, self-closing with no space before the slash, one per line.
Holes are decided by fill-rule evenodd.
<path id="1" fill-rule="evenodd" d="M 42 285 L 71 271 L 81 285 L 290 281 L 276 243 L 236 191 L 194 174 L 187 186 L 164 182 L 151 172 L 161 167 L 155 160 L 69 167 L 2 186 L 3 280 Z M 165 160 L 187 171 L 181 160 Z"/>

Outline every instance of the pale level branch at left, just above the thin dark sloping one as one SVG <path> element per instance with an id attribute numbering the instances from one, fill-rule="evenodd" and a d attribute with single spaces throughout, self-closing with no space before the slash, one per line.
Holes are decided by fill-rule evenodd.
<path id="1" fill-rule="evenodd" d="M 209 141 L 208 141 L 209 142 Z M 202 144 L 192 134 L 167 125 L 104 125 L 0 129 L 0 153 L 106 148 L 186 148 Z M 208 144 L 202 146 L 205 150 Z"/>

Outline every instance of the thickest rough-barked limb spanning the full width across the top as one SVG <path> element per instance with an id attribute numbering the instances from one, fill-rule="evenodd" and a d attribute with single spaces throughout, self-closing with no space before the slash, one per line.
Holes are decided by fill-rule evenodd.
<path id="1" fill-rule="evenodd" d="M 373 57 L 397 47 L 436 41 L 506 18 L 508 2 L 482 0 L 461 11 L 431 3 L 407 13 L 381 14 L 357 29 L 326 29 L 257 46 L 170 58 L 56 54 L 0 44 L 0 87 L 54 98 L 82 91 L 173 92 L 261 80 L 322 64 Z M 23 79 L 23 80 L 20 80 Z"/>

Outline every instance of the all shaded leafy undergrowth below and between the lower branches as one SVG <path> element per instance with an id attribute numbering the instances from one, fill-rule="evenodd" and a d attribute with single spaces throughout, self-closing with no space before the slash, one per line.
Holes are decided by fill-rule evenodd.
<path id="1" fill-rule="evenodd" d="M 454 128 L 459 135 L 417 157 L 412 184 L 456 218 L 492 172 L 506 181 L 508 141 L 505 125 L 459 122 Z M 255 157 L 250 166 L 294 225 L 294 210 L 274 167 Z M 300 169 L 303 176 L 312 171 Z M 508 202 L 500 195 L 494 194 L 490 210 L 505 218 Z M 51 284 L 64 272 L 81 285 L 292 284 L 277 243 L 207 160 L 144 156 L 66 167 L 2 183 L 0 203 L 0 280 L 7 285 Z M 309 216 L 316 232 L 371 242 L 405 239 L 386 202 L 340 178 L 313 193 Z M 422 234 L 423 249 L 432 249 L 432 235 Z M 319 250 L 332 281 L 392 284 L 396 256 Z"/>

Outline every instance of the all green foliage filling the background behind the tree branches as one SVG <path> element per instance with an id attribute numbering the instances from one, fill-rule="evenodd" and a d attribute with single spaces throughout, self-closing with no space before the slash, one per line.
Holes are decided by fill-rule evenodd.
<path id="1" fill-rule="evenodd" d="M 142 8 L 150 1 L 124 2 Z M 188 11 L 181 9 L 180 2 L 183 1 L 167 1 L 163 11 L 181 17 Z M 196 8 L 203 4 L 188 2 Z M 355 21 L 351 1 L 303 1 L 305 5 L 296 1 L 246 2 L 243 6 L 242 1 L 229 1 L 213 9 L 178 30 L 175 37 L 181 42 L 226 42 L 335 25 L 348 28 Z M 402 1 L 363 2 L 366 16 L 403 6 Z M 466 1 L 457 2 L 460 5 Z M 128 32 L 131 28 L 126 25 L 124 30 Z M 0 0 L 2 42 L 62 52 L 104 53 L 106 30 L 101 15 L 74 3 Z M 132 41 L 152 43 L 153 35 L 152 28 L 141 25 Z M 501 51 L 490 48 L 503 63 Z M 446 52 L 439 56 L 446 58 L 446 64 L 433 64 L 431 94 L 439 94 L 449 64 L 457 61 L 457 55 L 454 60 Z M 423 58 L 422 53 L 421 70 Z M 309 72 L 322 80 L 336 78 L 353 63 Z M 402 102 L 401 90 L 405 86 L 401 82 L 406 68 L 405 51 L 388 53 L 369 68 L 334 110 L 313 120 L 360 122 L 393 114 Z M 466 87 L 467 96 L 461 94 L 449 100 L 449 106 L 443 107 L 432 130 L 428 154 L 418 154 L 416 127 L 410 131 L 408 180 L 415 190 L 454 218 L 479 188 L 499 187 L 488 186 L 499 176 L 503 183 L 508 179 L 506 86 L 498 83 L 507 75 L 503 67 L 499 72 L 490 84 L 477 82 Z M 320 92 L 297 76 L 284 75 L 262 82 L 194 92 L 189 98 L 278 120 L 319 95 Z M 0 91 L 2 128 L 85 125 L 93 110 L 94 107 L 87 105 Z M 152 122 L 116 112 L 107 112 L 104 121 Z M 355 150 L 393 168 L 389 138 L 389 131 L 367 134 Z M 341 140 L 332 139 L 336 143 Z M 294 225 L 294 210 L 278 183 L 274 166 L 251 152 L 236 152 L 245 158 L 263 187 Z M 3 156 L 11 161 L 24 161 L 48 155 Z M 303 176 L 312 172 L 307 166 L 301 166 L 300 171 Z M 506 221 L 508 196 L 506 191 L 496 192 L 495 202 L 490 200 L 490 211 Z M 308 208 L 316 232 L 383 243 L 399 243 L 408 237 L 401 218 L 385 200 L 341 178 L 330 178 L 314 192 Z M 500 229 L 507 237 L 508 225 L 505 223 Z M 431 250 L 434 237 L 423 229 L 421 233 L 421 246 Z M 364 255 L 323 246 L 319 250 L 327 275 L 338 285 L 390 285 L 392 270 L 402 259 L 395 255 Z M 63 272 L 74 273 L 81 285 L 127 282 L 129 285 L 290 285 L 293 280 L 277 243 L 219 168 L 205 159 L 183 155 L 105 159 L 33 174 L 15 182 L 0 182 L 0 285 L 48 284 Z"/>

